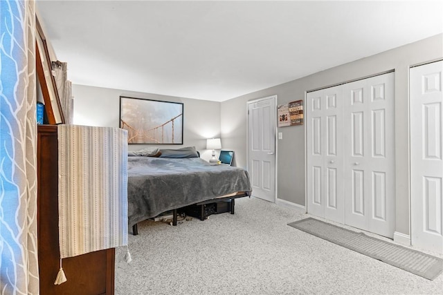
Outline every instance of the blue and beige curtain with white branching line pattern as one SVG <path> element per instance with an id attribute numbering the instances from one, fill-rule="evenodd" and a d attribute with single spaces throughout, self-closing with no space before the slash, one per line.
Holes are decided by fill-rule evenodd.
<path id="1" fill-rule="evenodd" d="M 35 2 L 0 1 L 0 294 L 38 294 Z"/>

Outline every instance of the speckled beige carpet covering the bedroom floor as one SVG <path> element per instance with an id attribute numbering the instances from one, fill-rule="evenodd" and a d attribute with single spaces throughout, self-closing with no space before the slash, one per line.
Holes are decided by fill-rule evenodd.
<path id="1" fill-rule="evenodd" d="M 177 227 L 141 222 L 116 250 L 116 294 L 443 294 L 435 280 L 350 251 L 289 222 L 311 217 L 256 198 Z"/>

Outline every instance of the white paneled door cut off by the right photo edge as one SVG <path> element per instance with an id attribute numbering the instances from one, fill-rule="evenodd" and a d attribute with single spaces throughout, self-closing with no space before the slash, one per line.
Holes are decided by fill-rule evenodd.
<path id="1" fill-rule="evenodd" d="M 443 253 L 443 61 L 410 69 L 412 245 Z"/>

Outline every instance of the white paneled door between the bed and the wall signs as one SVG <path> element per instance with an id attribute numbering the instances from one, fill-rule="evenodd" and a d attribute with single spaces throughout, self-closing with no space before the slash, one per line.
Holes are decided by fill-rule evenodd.
<path id="1" fill-rule="evenodd" d="M 248 173 L 252 195 L 275 202 L 276 96 L 248 102 Z"/>

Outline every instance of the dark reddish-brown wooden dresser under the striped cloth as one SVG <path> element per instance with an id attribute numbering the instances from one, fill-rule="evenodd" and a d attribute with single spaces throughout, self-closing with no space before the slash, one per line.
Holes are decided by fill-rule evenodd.
<path id="1" fill-rule="evenodd" d="M 67 281 L 54 285 L 60 269 L 57 126 L 37 128 L 40 294 L 114 294 L 114 248 L 63 259 Z"/>

